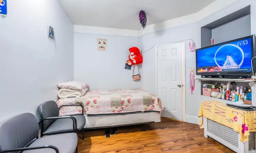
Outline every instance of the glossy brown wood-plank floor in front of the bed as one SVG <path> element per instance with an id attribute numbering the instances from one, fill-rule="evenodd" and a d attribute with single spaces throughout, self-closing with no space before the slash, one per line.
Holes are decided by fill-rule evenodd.
<path id="1" fill-rule="evenodd" d="M 205 138 L 199 125 L 161 118 L 160 123 L 124 126 L 106 138 L 104 130 L 85 131 L 78 139 L 79 153 L 231 153 L 212 138 Z M 79 134 L 81 137 L 82 134 Z"/>

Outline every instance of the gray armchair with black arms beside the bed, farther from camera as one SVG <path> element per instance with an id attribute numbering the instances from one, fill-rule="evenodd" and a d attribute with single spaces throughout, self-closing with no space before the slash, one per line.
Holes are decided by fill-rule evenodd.
<path id="1" fill-rule="evenodd" d="M 82 110 L 84 110 L 84 107 L 80 104 L 62 105 L 58 108 L 58 105 L 56 102 L 47 101 L 42 103 L 39 106 L 41 119 L 45 119 L 49 117 L 58 117 L 59 109 L 65 106 L 81 106 Z M 84 111 L 82 111 L 82 114 L 71 115 L 71 117 L 74 117 L 76 122 L 75 131 L 78 132 L 80 130 L 83 130 L 83 140 L 84 140 L 84 125 L 85 125 Z M 71 123 L 72 121 L 70 119 L 45 120 L 43 121 L 43 124 L 41 124 L 41 129 L 42 129 L 41 136 L 73 132 L 73 127 Z"/>

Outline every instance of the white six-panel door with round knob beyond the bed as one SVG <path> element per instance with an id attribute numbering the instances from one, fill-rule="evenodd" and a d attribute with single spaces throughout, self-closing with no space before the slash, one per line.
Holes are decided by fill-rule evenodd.
<path id="1" fill-rule="evenodd" d="M 182 43 L 157 48 L 157 95 L 165 108 L 161 116 L 182 121 Z"/>

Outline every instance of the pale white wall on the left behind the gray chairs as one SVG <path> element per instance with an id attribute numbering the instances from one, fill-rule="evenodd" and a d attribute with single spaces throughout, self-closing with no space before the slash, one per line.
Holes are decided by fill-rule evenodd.
<path id="1" fill-rule="evenodd" d="M 9 0 L 0 27 L 0 122 L 25 112 L 39 119 L 38 106 L 58 99 L 56 84 L 74 78 L 73 24 L 58 0 Z"/>

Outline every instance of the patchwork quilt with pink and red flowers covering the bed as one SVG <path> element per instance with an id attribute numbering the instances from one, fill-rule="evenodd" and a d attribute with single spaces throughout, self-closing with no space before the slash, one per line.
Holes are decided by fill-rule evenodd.
<path id="1" fill-rule="evenodd" d="M 88 90 L 82 97 L 61 98 L 58 106 L 82 104 L 85 114 L 113 114 L 163 109 L 160 98 L 142 89 Z M 60 116 L 81 113 L 78 106 L 62 107 Z"/>

